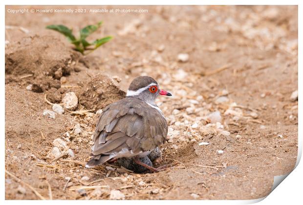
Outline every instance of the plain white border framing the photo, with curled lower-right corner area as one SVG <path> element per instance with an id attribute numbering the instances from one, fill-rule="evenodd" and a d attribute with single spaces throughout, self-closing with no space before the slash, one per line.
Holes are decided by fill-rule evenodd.
<path id="1" fill-rule="evenodd" d="M 3 1 L 1 1 L 3 2 Z M 144 3 L 143 3 L 144 2 Z M 72 4 L 71 4 L 72 3 Z M 85 3 L 85 4 L 84 4 Z M 4 0 L 4 2 L 2 3 L 2 12 L 1 12 L 1 28 L 4 28 L 4 22 L 5 22 L 5 4 L 8 5 L 17 5 L 17 4 L 32 4 L 32 5 L 195 5 L 195 4 L 204 4 L 204 5 L 236 5 L 236 4 L 251 4 L 251 5 L 267 5 L 267 4 L 271 4 L 271 5 L 299 5 L 299 76 L 298 79 L 302 79 L 302 71 L 300 70 L 301 68 L 301 60 L 302 58 L 302 52 L 300 52 L 302 50 L 302 38 L 300 38 L 300 36 L 302 36 L 302 21 L 300 21 L 300 19 L 303 18 L 302 16 L 302 3 L 300 0 L 229 0 L 227 1 L 223 1 L 223 0 L 174 0 L 174 1 L 166 1 L 164 2 L 163 0 L 145 0 L 145 1 L 140 1 L 140 0 L 103 0 L 102 2 L 100 1 L 94 1 L 94 0 L 85 0 L 85 1 L 65 1 L 63 2 L 62 0 L 27 0 L 27 1 L 21 1 L 21 0 Z M 0 87 L 0 96 L 2 98 L 2 100 L 0 100 L 0 133 L 1 133 L 1 150 L 2 150 L 2 154 L 4 154 L 4 134 L 5 134 L 5 91 L 4 91 L 4 51 L 5 51 L 5 46 L 4 46 L 4 31 L 2 30 L 1 32 L 1 39 L 2 41 L 0 42 L 1 44 L 1 65 L 2 68 L 0 69 L 0 81 L 1 81 L 1 87 Z M 302 82 L 299 81 L 299 95 L 301 96 L 302 93 Z M 302 116 L 302 107 L 299 106 L 299 124 L 301 125 L 301 117 Z M 299 149 L 298 149 L 298 159 L 297 159 L 297 165 L 301 159 L 302 156 L 302 129 L 300 129 L 299 127 Z M 4 200 L 4 155 L 2 156 L 2 160 L 0 160 L 0 169 L 1 169 L 1 184 L 0 184 L 0 188 L 1 188 L 1 201 Z M 303 173 L 303 165 L 302 163 L 292 172 L 290 173 L 290 175 L 287 177 L 287 180 L 285 180 L 284 182 L 282 182 L 281 186 L 278 186 L 278 188 L 276 188 L 265 200 L 263 200 L 260 204 L 285 204 L 285 203 L 290 203 L 290 204 L 299 204 L 302 203 L 302 188 L 301 188 L 301 184 L 302 184 L 302 173 Z M 290 197 L 291 196 L 291 197 Z M 235 205 L 235 204 L 251 204 L 251 203 L 255 203 L 258 202 L 260 200 L 248 200 L 248 201 L 191 201 L 190 203 L 193 204 L 224 204 L 224 205 Z M 291 203 L 292 202 L 292 203 Z M 38 204 L 41 203 L 39 201 L 5 201 L 5 204 Z M 53 204 L 53 203 L 59 203 L 59 204 L 64 204 L 67 203 L 66 201 L 45 201 L 43 203 L 46 204 Z M 83 203 L 95 203 L 95 204 L 116 204 L 117 202 L 115 201 L 72 201 L 73 204 L 83 204 Z M 173 203 L 173 204 L 184 204 L 187 203 L 185 201 L 123 201 L 123 202 L 118 202 L 119 204 L 166 204 L 166 203 Z"/>

